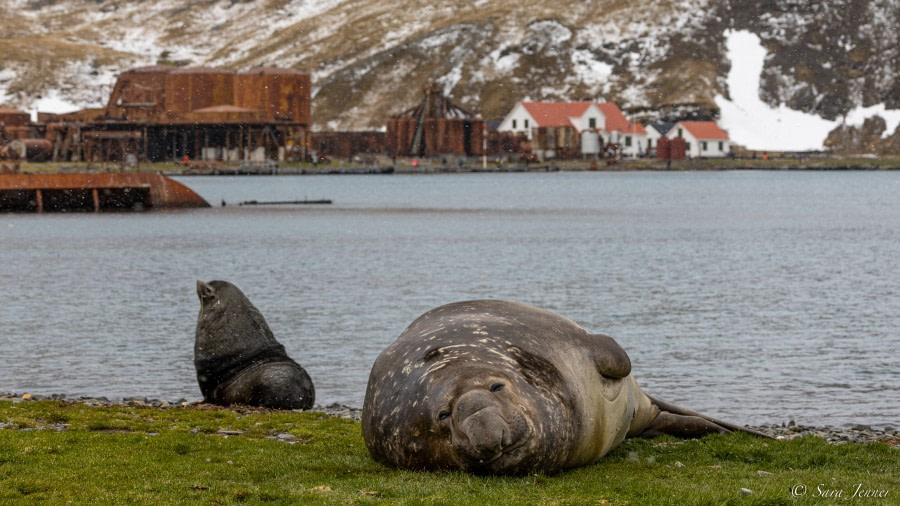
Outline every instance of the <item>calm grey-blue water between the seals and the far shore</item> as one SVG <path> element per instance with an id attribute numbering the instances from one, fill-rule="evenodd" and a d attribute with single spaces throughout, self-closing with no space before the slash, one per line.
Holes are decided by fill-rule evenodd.
<path id="1" fill-rule="evenodd" d="M 421 313 L 502 298 L 699 411 L 900 424 L 900 173 L 179 179 L 216 207 L 0 215 L 0 391 L 199 400 L 195 280 L 226 279 L 320 404 L 361 406 Z M 234 205 L 303 198 L 335 205 Z"/>

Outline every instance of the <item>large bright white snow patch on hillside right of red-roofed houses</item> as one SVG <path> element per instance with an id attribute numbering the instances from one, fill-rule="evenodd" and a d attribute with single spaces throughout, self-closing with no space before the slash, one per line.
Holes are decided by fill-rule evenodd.
<path id="1" fill-rule="evenodd" d="M 731 100 L 717 95 L 721 109 L 720 125 L 731 140 L 748 149 L 772 151 L 802 151 L 822 149 L 828 133 L 839 121 L 829 121 L 786 107 L 772 108 L 760 99 L 759 85 L 766 49 L 756 34 L 745 30 L 725 32 L 728 59 L 728 90 Z M 900 110 L 886 110 L 884 105 L 859 107 L 847 114 L 847 124 L 860 125 L 878 114 L 887 122 L 892 133 L 900 122 Z"/>

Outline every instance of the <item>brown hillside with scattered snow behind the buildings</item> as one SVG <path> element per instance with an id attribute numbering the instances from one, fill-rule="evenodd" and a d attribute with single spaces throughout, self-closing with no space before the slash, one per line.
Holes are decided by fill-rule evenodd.
<path id="1" fill-rule="evenodd" d="M 437 81 L 488 118 L 520 99 L 715 112 L 727 29 L 768 50 L 765 102 L 900 109 L 896 0 L 6 0 L 0 105 L 105 102 L 151 65 L 307 70 L 318 128 L 380 127 Z M 740 62 L 734 62 L 739 65 Z"/>

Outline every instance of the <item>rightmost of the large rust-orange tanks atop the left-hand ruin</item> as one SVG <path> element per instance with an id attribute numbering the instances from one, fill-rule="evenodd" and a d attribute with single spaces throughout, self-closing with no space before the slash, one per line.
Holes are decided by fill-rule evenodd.
<path id="1" fill-rule="evenodd" d="M 279 68 L 257 68 L 234 76 L 234 105 L 264 111 L 269 121 L 309 124 L 309 74 Z"/>

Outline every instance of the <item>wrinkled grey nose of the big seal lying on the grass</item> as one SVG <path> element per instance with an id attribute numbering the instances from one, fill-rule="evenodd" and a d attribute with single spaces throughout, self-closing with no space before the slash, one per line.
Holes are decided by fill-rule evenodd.
<path id="1" fill-rule="evenodd" d="M 485 391 L 463 394 L 456 402 L 454 418 L 477 458 L 489 458 L 511 444 L 509 424 L 501 416 L 497 400 Z"/>

